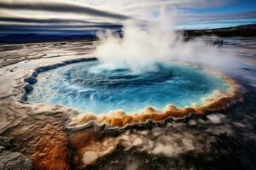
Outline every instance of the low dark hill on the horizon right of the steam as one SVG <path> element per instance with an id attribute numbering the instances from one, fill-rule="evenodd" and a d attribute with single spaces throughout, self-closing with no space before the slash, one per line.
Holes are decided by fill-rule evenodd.
<path id="1" fill-rule="evenodd" d="M 185 37 L 218 36 L 218 37 L 256 37 L 256 24 L 246 26 L 234 26 L 206 30 L 183 31 Z"/>

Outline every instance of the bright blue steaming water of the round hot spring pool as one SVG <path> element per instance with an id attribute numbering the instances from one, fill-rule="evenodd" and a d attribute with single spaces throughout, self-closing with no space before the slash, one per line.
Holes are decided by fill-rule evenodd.
<path id="1" fill-rule="evenodd" d="M 27 100 L 102 114 L 141 111 L 148 105 L 202 105 L 202 98 L 227 89 L 221 78 L 189 65 L 157 64 L 154 71 L 136 73 L 88 61 L 40 73 Z"/>

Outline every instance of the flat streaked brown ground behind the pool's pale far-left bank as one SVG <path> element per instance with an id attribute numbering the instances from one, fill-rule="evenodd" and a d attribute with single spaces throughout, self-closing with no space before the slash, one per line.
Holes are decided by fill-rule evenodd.
<path id="1" fill-rule="evenodd" d="M 58 58 L 67 55 L 90 54 L 95 48 L 91 41 L 38 42 L 1 44 L 0 67 L 32 59 Z"/>

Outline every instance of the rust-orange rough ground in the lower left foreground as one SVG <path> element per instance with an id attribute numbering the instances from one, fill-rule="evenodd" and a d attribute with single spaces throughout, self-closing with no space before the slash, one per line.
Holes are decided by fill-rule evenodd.
<path id="1" fill-rule="evenodd" d="M 1 115 L 14 112 L 15 126 L 1 135 L 15 139 L 13 151 L 32 160 L 35 169 L 70 169 L 67 134 L 63 132 L 67 115 L 57 107 L 55 111 L 37 110 L 28 105 L 1 105 Z M 49 110 L 51 110 L 49 109 Z M 24 114 L 25 113 L 25 114 Z"/>

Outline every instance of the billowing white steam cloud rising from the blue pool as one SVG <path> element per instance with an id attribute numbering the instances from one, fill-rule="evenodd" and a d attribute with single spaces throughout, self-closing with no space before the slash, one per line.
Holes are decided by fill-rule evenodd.
<path id="1" fill-rule="evenodd" d="M 183 42 L 181 35 L 172 28 L 165 10 L 161 10 L 159 20 L 154 26 L 140 27 L 126 23 L 123 38 L 110 31 L 98 33 L 104 41 L 96 48 L 96 56 L 108 68 L 130 68 L 132 71 L 152 71 L 154 63 L 180 60 L 215 69 L 234 67 L 229 57 L 232 54 L 218 47 L 207 45 L 195 39 Z"/>

